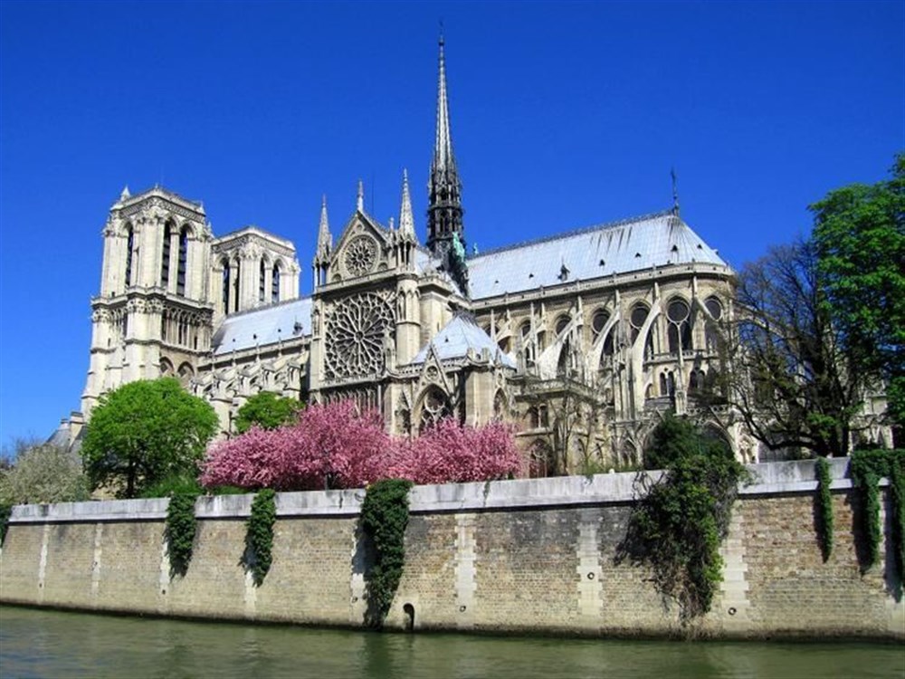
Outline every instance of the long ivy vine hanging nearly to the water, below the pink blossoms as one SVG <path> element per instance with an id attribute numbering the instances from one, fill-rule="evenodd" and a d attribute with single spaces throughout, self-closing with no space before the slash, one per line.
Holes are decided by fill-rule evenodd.
<path id="1" fill-rule="evenodd" d="M 374 549 L 373 565 L 365 574 L 369 626 L 383 626 L 402 578 L 411 487 L 411 482 L 401 479 L 372 483 L 361 505 L 362 530 Z"/>

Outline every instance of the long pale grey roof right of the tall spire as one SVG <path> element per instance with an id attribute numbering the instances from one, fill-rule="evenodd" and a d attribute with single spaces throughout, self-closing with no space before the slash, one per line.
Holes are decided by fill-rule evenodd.
<path id="1" fill-rule="evenodd" d="M 473 300 L 684 263 L 728 266 L 672 211 L 481 253 L 468 260 Z"/>

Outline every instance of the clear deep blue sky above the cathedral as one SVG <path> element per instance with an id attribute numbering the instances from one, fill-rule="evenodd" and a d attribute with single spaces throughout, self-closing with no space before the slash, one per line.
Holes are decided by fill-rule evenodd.
<path id="1" fill-rule="evenodd" d="M 740 267 L 905 148 L 905 3 L 0 3 L 0 443 L 79 406 L 124 185 L 215 234 L 334 233 L 366 184 L 424 239 L 443 20 L 466 236 L 671 205 Z"/>

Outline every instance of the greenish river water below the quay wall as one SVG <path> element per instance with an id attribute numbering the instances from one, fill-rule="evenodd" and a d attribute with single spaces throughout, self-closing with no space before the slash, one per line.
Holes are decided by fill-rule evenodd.
<path id="1" fill-rule="evenodd" d="M 905 646 L 401 634 L 0 607 L 0 677 L 905 677 Z"/>

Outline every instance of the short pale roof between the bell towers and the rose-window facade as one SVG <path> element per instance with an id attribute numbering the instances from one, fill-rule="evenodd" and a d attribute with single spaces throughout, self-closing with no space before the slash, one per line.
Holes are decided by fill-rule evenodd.
<path id="1" fill-rule="evenodd" d="M 227 316 L 214 335 L 214 355 L 222 356 L 230 351 L 252 349 L 310 334 L 311 298 L 282 301 Z"/>

